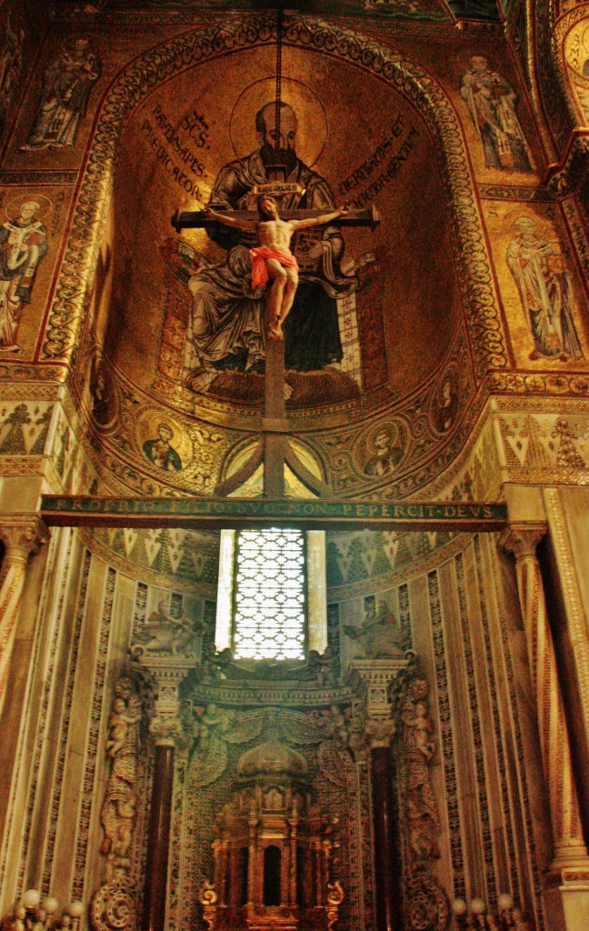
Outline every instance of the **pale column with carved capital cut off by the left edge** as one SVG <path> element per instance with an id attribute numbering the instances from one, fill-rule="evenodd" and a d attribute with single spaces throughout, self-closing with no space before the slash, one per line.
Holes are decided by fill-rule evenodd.
<path id="1" fill-rule="evenodd" d="M 29 557 L 47 542 L 48 531 L 37 515 L 10 515 L 0 521 L 5 546 L 0 574 L 0 708 L 4 704 L 7 673 L 27 574 Z"/>

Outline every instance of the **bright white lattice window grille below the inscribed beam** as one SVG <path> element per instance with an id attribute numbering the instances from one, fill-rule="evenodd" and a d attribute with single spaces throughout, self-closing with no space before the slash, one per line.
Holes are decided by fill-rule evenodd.
<path id="1" fill-rule="evenodd" d="M 235 659 L 304 659 L 305 535 L 277 529 L 237 533 Z"/>

